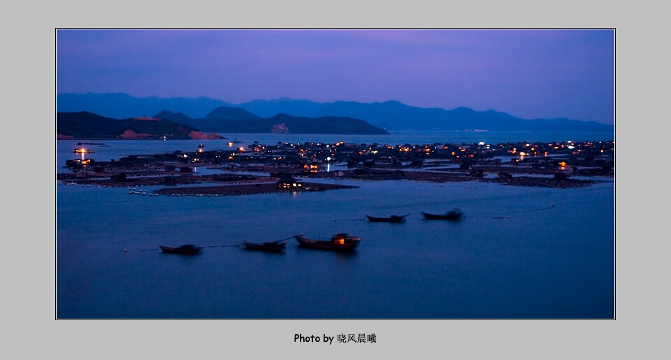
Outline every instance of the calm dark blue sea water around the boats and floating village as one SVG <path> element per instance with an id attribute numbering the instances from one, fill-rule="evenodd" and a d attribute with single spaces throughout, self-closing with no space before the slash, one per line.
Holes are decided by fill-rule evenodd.
<path id="1" fill-rule="evenodd" d="M 411 135 L 400 143 L 454 142 Z M 244 145 L 394 143 L 356 136 L 227 137 Z M 537 140 L 613 140 L 572 137 Z M 87 145 L 101 161 L 225 145 L 102 142 L 110 146 Z M 76 158 L 75 145 L 57 141 L 57 172 L 66 171 L 65 159 Z M 57 183 L 57 318 L 612 319 L 614 181 L 603 180 L 582 189 L 331 180 L 359 188 L 219 197 L 140 196 Z M 421 211 L 451 208 L 461 208 L 466 219 L 421 218 Z M 406 213 L 402 224 L 363 221 Z M 238 247 L 243 240 L 337 232 L 361 236 L 359 249 L 308 250 L 295 239 L 287 240 L 284 254 Z M 158 248 L 183 243 L 203 252 L 183 257 Z"/>

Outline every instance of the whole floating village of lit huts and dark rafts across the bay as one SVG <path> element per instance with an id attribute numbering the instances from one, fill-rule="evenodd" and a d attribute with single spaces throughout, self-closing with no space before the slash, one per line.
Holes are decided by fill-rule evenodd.
<path id="1" fill-rule="evenodd" d="M 354 187 L 319 179 L 477 180 L 561 189 L 586 187 L 601 181 L 599 178 L 614 177 L 614 141 L 423 145 L 342 141 L 270 145 L 254 141 L 244 146 L 222 140 L 222 145 L 224 148 L 217 150 L 206 150 L 201 144 L 192 152 L 177 150 L 95 161 L 87 143 L 78 143 L 73 152 L 79 158 L 67 160 L 63 166 L 69 171 L 58 173 L 57 180 L 67 185 L 100 187 L 164 186 L 150 195 L 225 196 Z M 199 167 L 222 172 L 201 175 L 194 171 Z M 147 194 L 140 190 L 134 193 Z"/>

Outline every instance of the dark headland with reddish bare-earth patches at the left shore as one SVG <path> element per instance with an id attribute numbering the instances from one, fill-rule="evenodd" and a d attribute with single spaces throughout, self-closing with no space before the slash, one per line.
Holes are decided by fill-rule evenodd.
<path id="1" fill-rule="evenodd" d="M 57 138 L 214 138 L 199 129 L 153 117 L 113 119 L 86 111 L 56 114 Z M 218 136 L 216 138 L 219 138 Z"/>

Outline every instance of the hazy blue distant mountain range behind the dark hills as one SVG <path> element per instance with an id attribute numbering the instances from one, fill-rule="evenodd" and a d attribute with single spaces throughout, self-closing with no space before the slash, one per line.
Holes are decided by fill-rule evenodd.
<path id="1" fill-rule="evenodd" d="M 226 115 L 215 113 L 222 111 Z M 233 110 L 236 109 L 236 110 Z M 58 94 L 57 112 L 89 111 L 106 117 L 127 118 L 155 114 L 167 111 L 169 118 L 175 122 L 191 124 L 203 131 L 214 130 L 211 125 L 219 124 L 224 118 L 235 120 L 227 126 L 237 129 L 242 122 L 256 120 L 259 127 L 266 127 L 270 122 L 292 116 L 307 126 L 310 121 L 321 118 L 323 124 L 328 121 L 348 118 L 363 120 L 373 127 L 387 130 L 489 130 L 489 131 L 614 131 L 614 125 L 600 124 L 593 121 L 556 119 L 521 119 L 495 110 L 475 111 L 470 108 L 445 110 L 440 108 L 417 108 L 407 106 L 398 101 L 384 103 L 359 103 L 354 101 L 335 101 L 333 103 L 315 103 L 308 100 L 275 99 L 253 100 L 246 103 L 226 103 L 224 101 L 199 98 L 136 98 L 127 94 Z M 246 110 L 242 113 L 240 110 Z M 276 115 L 280 118 L 273 119 Z M 182 120 L 178 120 L 182 118 Z M 314 118 L 313 120 L 306 120 Z M 284 118 L 287 120 L 288 118 Z M 199 120 L 199 126 L 191 120 Z M 240 122 L 234 124 L 234 122 Z M 363 124 L 362 123 L 362 124 Z M 291 127 L 289 127 L 289 132 Z M 296 128 L 294 124 L 294 128 Z M 248 126 L 249 124 L 247 124 Z M 229 131 L 237 132 L 237 131 Z M 342 134 L 342 133 L 336 133 Z M 367 134 L 367 133 L 364 133 Z"/>

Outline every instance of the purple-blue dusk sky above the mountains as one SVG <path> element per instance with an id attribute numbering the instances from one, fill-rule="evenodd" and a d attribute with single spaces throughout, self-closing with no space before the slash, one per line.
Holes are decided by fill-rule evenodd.
<path id="1" fill-rule="evenodd" d="M 57 30 L 56 40 L 59 94 L 397 100 L 614 124 L 614 30 Z"/>

